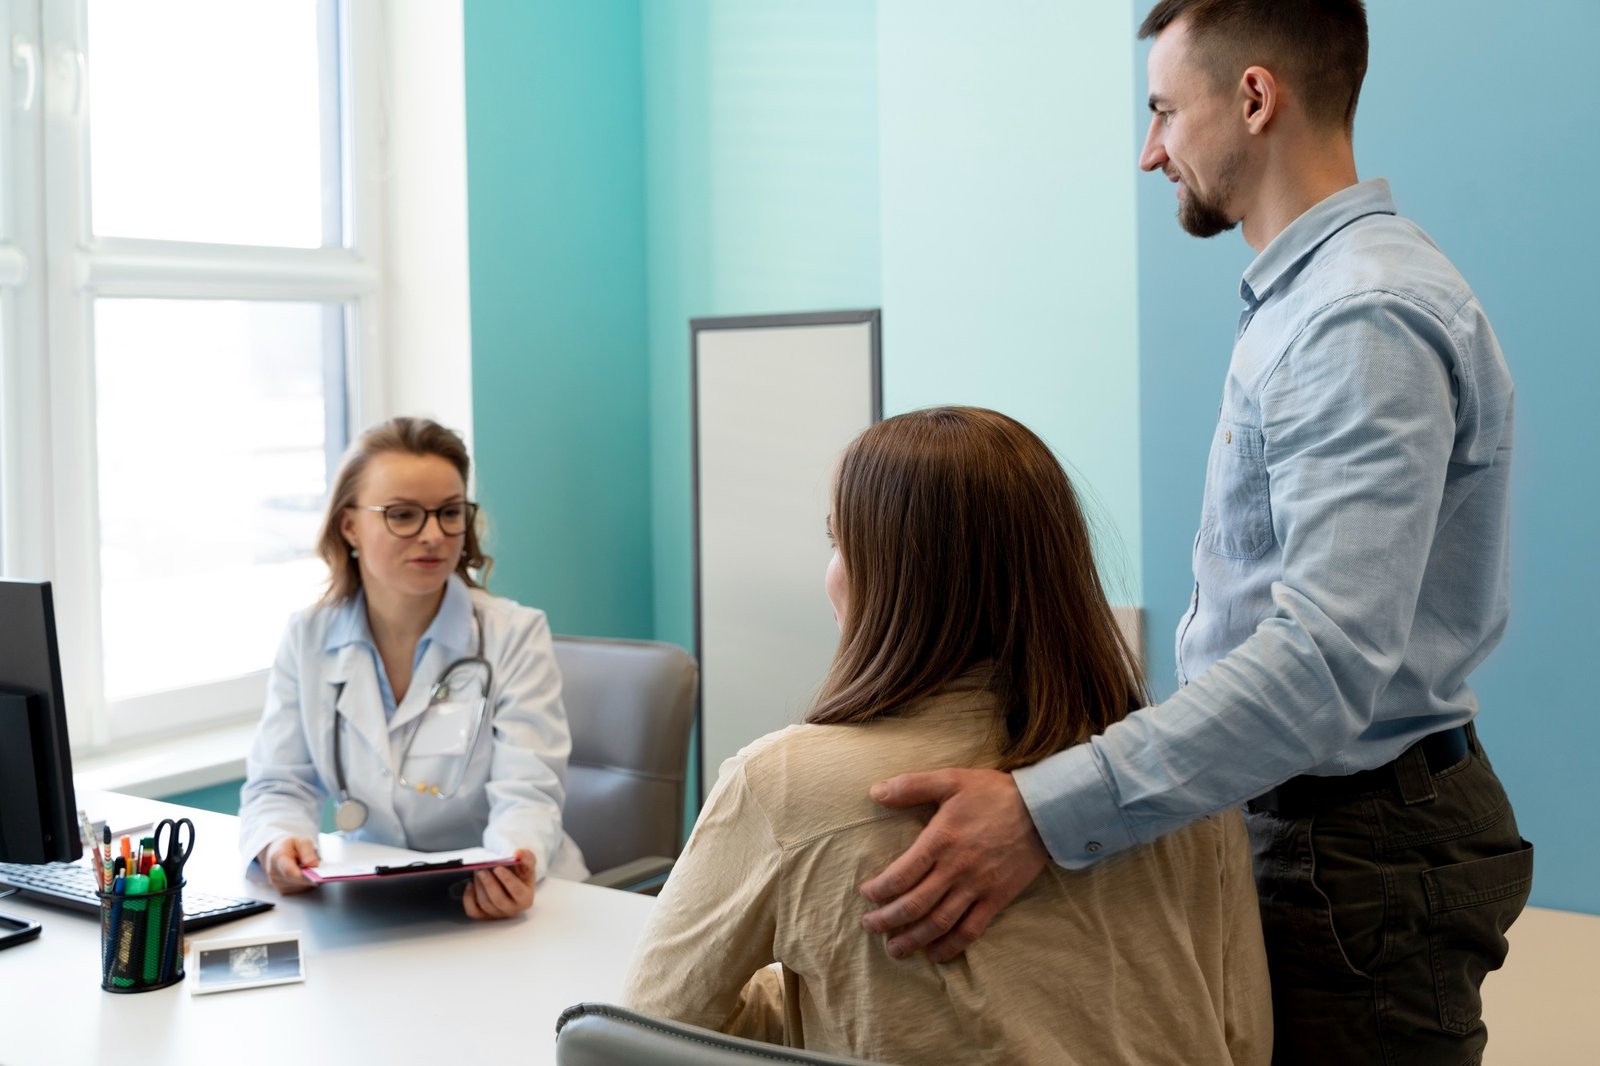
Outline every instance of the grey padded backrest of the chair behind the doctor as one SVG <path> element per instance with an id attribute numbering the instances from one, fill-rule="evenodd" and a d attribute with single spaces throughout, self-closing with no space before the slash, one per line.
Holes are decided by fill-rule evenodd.
<path id="1" fill-rule="evenodd" d="M 654 640 L 555 637 L 573 733 L 562 821 L 589 884 L 659 890 L 683 839 L 699 667 Z"/>

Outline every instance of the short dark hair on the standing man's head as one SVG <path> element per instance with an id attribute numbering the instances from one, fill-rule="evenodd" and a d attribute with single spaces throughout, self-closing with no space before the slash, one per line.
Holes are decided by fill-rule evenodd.
<path id="1" fill-rule="evenodd" d="M 1139 38 L 1178 19 L 1187 21 L 1198 62 L 1219 85 L 1262 66 L 1288 77 L 1312 122 L 1354 128 L 1366 77 L 1362 0 L 1160 0 Z"/>

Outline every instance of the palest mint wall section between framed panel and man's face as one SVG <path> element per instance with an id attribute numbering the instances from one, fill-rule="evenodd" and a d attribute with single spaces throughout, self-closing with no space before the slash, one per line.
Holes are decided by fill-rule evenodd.
<path id="1" fill-rule="evenodd" d="M 978 403 L 1069 464 L 1138 603 L 1130 2 L 878 5 L 886 413 Z"/>

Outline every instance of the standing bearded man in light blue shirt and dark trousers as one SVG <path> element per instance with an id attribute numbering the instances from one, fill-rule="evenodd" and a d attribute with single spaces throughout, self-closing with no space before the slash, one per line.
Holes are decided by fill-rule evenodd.
<path id="1" fill-rule="evenodd" d="M 1358 181 L 1360 0 L 1162 0 L 1139 158 L 1197 237 L 1256 259 L 1178 627 L 1182 687 L 939 804 L 862 885 L 890 952 L 950 959 L 1046 861 L 1104 861 L 1246 805 L 1278 1063 L 1477 1063 L 1478 986 L 1531 847 L 1466 679 L 1507 616 L 1512 383 L 1467 283 Z M 1139 930 L 1128 930 L 1138 936 Z"/>

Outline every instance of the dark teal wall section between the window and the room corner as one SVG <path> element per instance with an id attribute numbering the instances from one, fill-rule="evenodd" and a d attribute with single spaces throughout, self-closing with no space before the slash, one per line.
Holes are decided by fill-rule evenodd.
<path id="1" fill-rule="evenodd" d="M 466 5 L 472 405 L 491 587 L 648 637 L 638 3 Z"/>

